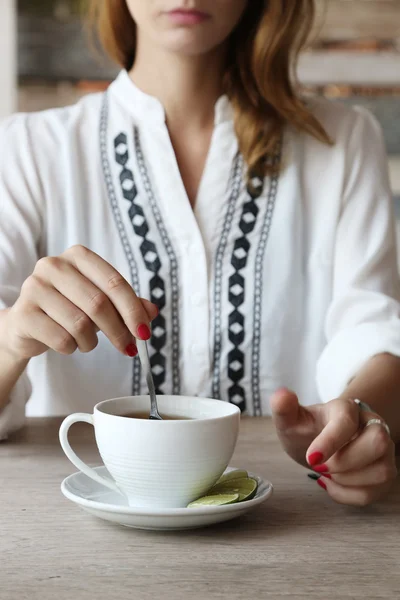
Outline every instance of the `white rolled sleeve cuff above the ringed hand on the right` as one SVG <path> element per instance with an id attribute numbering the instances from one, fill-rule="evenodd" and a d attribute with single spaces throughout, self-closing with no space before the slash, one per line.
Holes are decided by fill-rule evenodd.
<path id="1" fill-rule="evenodd" d="M 340 396 L 365 363 L 383 353 L 400 357 L 398 320 L 363 323 L 338 333 L 317 364 L 316 383 L 322 402 Z"/>

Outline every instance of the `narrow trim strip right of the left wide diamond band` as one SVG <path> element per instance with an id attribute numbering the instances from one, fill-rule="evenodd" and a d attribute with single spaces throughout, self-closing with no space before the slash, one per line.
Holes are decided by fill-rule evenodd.
<path id="1" fill-rule="evenodd" d="M 146 162 L 143 156 L 143 151 L 140 143 L 139 130 L 135 127 L 134 130 L 134 142 L 136 159 L 139 167 L 140 176 L 142 178 L 143 187 L 149 198 L 150 206 L 153 211 L 154 219 L 157 223 L 158 231 L 161 236 L 164 248 L 167 252 L 170 261 L 170 276 L 171 276 L 171 319 L 172 319 L 172 393 L 180 394 L 180 330 L 179 330 L 179 277 L 178 277 L 178 261 L 171 240 L 167 233 L 163 218 L 161 216 L 160 209 L 158 207 L 153 187 L 151 185 L 150 177 L 148 174 Z M 157 298 L 152 301 L 157 304 Z M 154 321 L 153 335 L 157 337 L 158 323 L 157 319 Z M 153 358 L 153 357 L 152 357 Z"/>

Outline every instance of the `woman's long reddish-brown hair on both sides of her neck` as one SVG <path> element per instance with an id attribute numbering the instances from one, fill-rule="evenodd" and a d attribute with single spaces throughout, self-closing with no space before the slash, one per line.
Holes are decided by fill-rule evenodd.
<path id="1" fill-rule="evenodd" d="M 252 176 L 264 176 L 276 168 L 271 157 L 286 125 L 330 143 L 296 92 L 294 79 L 314 12 L 314 0 L 249 0 L 231 36 L 225 91 L 234 108 L 239 147 Z M 90 17 L 105 50 L 129 70 L 135 59 L 136 25 L 126 0 L 90 0 Z"/>

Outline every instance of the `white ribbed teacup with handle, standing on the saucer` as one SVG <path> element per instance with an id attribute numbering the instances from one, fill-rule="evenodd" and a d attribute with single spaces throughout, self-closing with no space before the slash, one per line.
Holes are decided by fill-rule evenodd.
<path id="1" fill-rule="evenodd" d="M 123 492 L 130 506 L 182 508 L 217 481 L 232 458 L 240 411 L 227 402 L 185 396 L 160 396 L 160 413 L 187 417 L 150 421 L 125 415 L 149 414 L 148 396 L 100 402 L 93 415 L 76 413 L 60 428 L 61 446 L 85 475 Z M 72 450 L 68 430 L 73 423 L 94 425 L 100 455 L 113 477 L 101 477 Z"/>

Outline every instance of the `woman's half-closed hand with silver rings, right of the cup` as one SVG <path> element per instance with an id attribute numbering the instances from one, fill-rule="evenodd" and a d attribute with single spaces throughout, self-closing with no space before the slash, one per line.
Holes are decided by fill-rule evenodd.
<path id="1" fill-rule="evenodd" d="M 276 392 L 273 419 L 286 452 L 321 474 L 317 483 L 340 504 L 366 506 L 385 495 L 397 476 L 395 445 L 379 415 L 361 411 L 352 399 L 302 407 L 297 396 Z"/>

